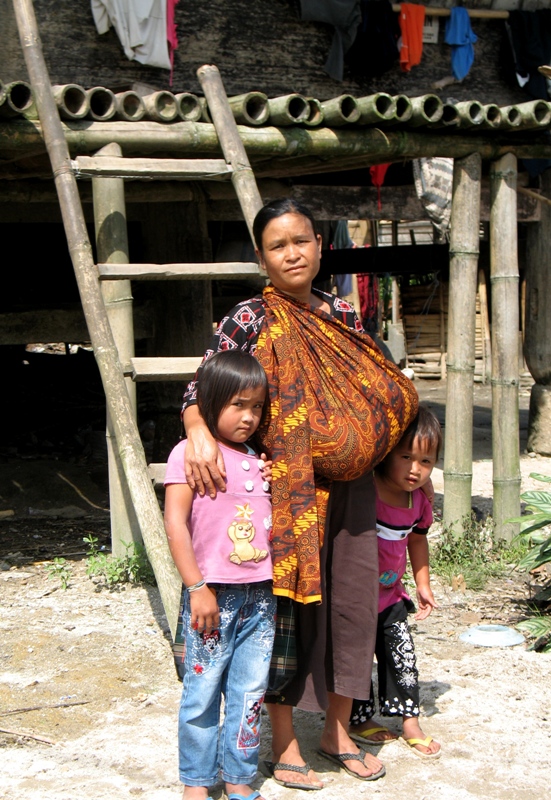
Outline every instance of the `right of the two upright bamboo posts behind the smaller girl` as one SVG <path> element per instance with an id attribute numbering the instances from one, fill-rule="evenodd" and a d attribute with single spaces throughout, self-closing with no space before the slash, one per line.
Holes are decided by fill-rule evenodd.
<path id="1" fill-rule="evenodd" d="M 520 514 L 516 157 L 492 162 L 490 179 L 493 516 L 497 535 L 511 540 L 519 525 L 507 520 Z"/>

